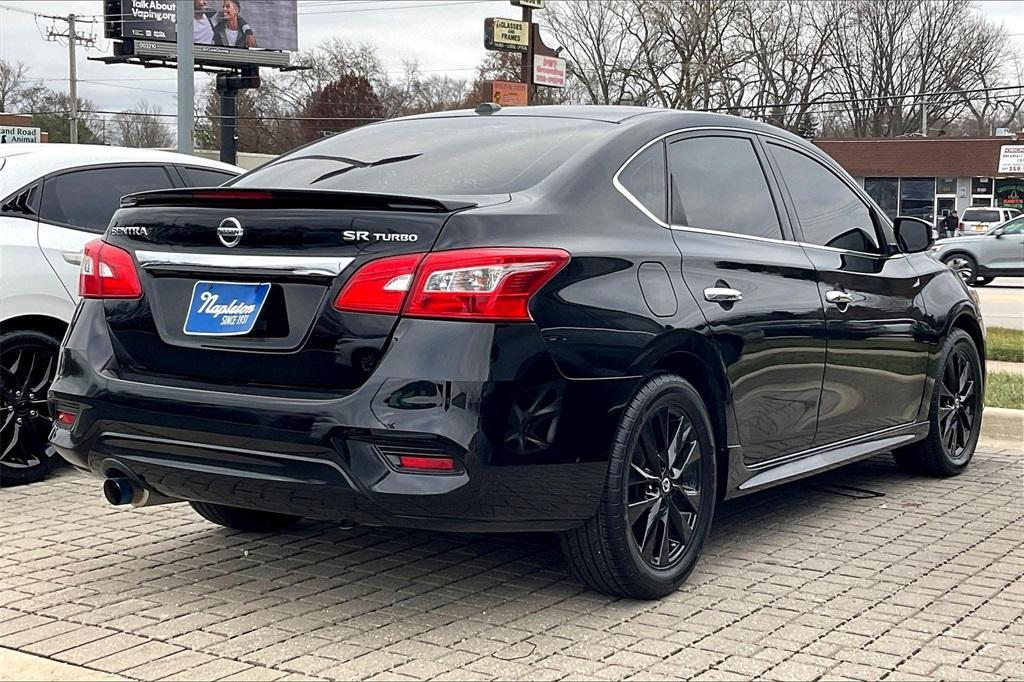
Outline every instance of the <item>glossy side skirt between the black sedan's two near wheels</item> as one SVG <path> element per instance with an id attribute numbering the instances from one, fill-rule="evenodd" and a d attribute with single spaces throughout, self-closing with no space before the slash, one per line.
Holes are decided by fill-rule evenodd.
<path id="1" fill-rule="evenodd" d="M 897 426 L 779 458 L 774 464 L 765 462 L 757 468 L 743 465 L 739 447 L 730 446 L 729 459 L 732 462 L 725 499 L 738 498 L 901 447 L 925 438 L 928 428 L 928 422 Z"/>

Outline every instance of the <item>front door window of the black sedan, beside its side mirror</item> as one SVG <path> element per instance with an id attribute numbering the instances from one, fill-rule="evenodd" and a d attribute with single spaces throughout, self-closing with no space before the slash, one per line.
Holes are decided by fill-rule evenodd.
<path id="1" fill-rule="evenodd" d="M 771 144 L 797 217 L 810 244 L 881 253 L 867 205 L 833 171 L 810 157 Z"/>

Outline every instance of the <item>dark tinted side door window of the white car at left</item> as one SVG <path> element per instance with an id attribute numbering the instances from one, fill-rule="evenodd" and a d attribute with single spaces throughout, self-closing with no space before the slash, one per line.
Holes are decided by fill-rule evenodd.
<path id="1" fill-rule="evenodd" d="M 49 177 L 43 184 L 39 217 L 89 231 L 106 229 L 121 198 L 172 186 L 163 166 L 86 168 Z"/>

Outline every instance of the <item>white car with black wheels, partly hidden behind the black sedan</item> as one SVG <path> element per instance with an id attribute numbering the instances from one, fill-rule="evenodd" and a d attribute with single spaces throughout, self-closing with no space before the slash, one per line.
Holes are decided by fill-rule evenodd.
<path id="1" fill-rule="evenodd" d="M 53 467 L 46 392 L 78 302 L 82 248 L 121 197 L 218 185 L 241 172 L 170 152 L 0 144 L 0 485 Z"/>

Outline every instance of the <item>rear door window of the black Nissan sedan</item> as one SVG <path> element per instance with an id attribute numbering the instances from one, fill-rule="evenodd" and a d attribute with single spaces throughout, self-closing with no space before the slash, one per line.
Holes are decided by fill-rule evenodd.
<path id="1" fill-rule="evenodd" d="M 754 143 L 744 137 L 695 137 L 669 146 L 672 222 L 780 239 Z"/>

